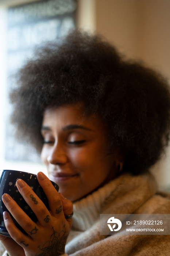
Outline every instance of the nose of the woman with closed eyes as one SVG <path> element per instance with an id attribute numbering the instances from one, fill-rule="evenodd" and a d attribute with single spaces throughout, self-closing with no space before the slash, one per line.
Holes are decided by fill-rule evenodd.
<path id="1" fill-rule="evenodd" d="M 67 163 L 68 158 L 64 146 L 55 143 L 47 156 L 47 162 L 53 165 L 63 165 Z"/>

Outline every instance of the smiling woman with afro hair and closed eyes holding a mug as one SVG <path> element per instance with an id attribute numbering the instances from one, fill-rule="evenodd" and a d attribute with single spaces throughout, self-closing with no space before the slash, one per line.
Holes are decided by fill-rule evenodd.
<path id="1" fill-rule="evenodd" d="M 166 235 L 100 235 L 100 214 L 170 214 L 170 199 L 149 172 L 169 142 L 170 92 L 162 76 L 124 60 L 100 37 L 73 31 L 37 50 L 18 83 L 11 94 L 18 137 L 41 152 L 59 193 L 38 173 L 50 211 L 38 199 L 37 209 L 30 187 L 16 182 L 37 223 L 3 195 L 28 233 L 4 213 L 12 238 L 0 239 L 8 254 L 168 255 Z"/>

